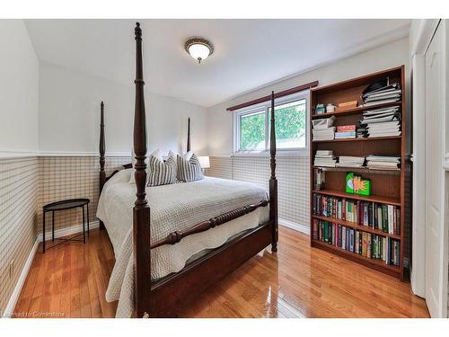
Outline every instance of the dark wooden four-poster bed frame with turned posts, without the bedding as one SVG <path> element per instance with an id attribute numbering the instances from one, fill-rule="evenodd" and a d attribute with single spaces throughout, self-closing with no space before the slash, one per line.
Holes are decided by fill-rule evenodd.
<path id="1" fill-rule="evenodd" d="M 213 217 L 203 218 L 181 230 L 175 230 L 162 238 L 152 242 L 152 227 L 150 219 L 152 210 L 146 200 L 146 119 L 144 100 L 144 79 L 142 64 L 142 31 L 140 24 L 136 23 L 136 106 L 134 119 L 134 151 L 136 156 L 135 180 L 136 201 L 133 208 L 132 225 L 132 251 L 134 263 L 134 316 L 136 317 L 166 317 L 176 315 L 176 308 L 188 302 L 207 287 L 213 286 L 227 274 L 237 269 L 242 263 L 251 259 L 257 253 L 271 244 L 272 252 L 277 252 L 277 178 L 276 178 L 276 134 L 274 93 L 271 93 L 271 127 L 270 127 L 270 179 L 269 198 L 259 199 L 258 202 L 242 204 L 218 213 Z M 188 121 L 190 126 L 190 120 Z M 190 132 L 188 127 L 187 150 L 190 150 Z M 105 136 L 104 136 L 104 104 L 101 102 L 101 131 L 100 131 L 100 191 L 105 183 L 117 172 L 107 177 L 104 171 L 105 164 Z M 130 168 L 131 165 L 124 165 Z M 119 175 L 119 174 L 118 174 Z M 224 181 L 225 182 L 225 181 Z M 229 182 L 229 181 L 228 181 Z M 187 185 L 191 182 L 186 182 Z M 237 186 L 238 182 L 234 182 Z M 183 183 L 175 184 L 172 188 L 182 189 Z M 158 188 L 158 187 L 156 187 Z M 153 189 L 153 188 L 150 188 Z M 236 190 L 237 187 L 236 187 Z M 135 190 L 134 190 L 135 191 Z M 152 191 L 152 190 L 149 190 Z M 153 190 L 154 191 L 154 190 Z M 158 190 L 162 191 L 162 190 Z M 265 192 L 266 193 L 266 192 Z M 153 201 L 153 200 L 152 200 Z M 188 261 L 185 266 L 160 279 L 152 279 L 152 250 L 158 250 L 165 245 L 180 244 L 181 240 L 191 239 L 194 235 L 212 233 L 209 229 L 225 228 L 255 214 L 256 210 L 269 205 L 269 215 L 259 225 L 246 228 L 237 235 L 231 236 L 225 244 L 210 249 L 198 258 Z M 218 211 L 217 211 L 218 212 Z M 186 214 L 185 217 L 189 217 Z M 176 222 L 172 219 L 172 222 Z M 101 229 L 104 225 L 101 223 Z M 207 233 L 206 233 L 207 232 Z M 155 252 L 155 251 L 154 251 Z"/>

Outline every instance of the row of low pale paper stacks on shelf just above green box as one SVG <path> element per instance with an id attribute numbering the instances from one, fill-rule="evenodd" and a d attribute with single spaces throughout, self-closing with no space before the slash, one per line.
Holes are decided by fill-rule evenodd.
<path id="1" fill-rule="evenodd" d="M 372 170 L 397 171 L 401 166 L 401 157 L 397 155 L 339 155 L 332 150 L 317 150 L 313 165 L 320 167 L 354 167 Z"/>

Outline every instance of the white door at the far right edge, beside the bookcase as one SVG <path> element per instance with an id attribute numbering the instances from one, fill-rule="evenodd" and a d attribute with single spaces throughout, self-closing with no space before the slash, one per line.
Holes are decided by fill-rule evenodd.
<path id="1" fill-rule="evenodd" d="M 443 315 L 445 287 L 443 93 L 444 28 L 440 23 L 426 52 L 426 301 L 432 317 Z"/>

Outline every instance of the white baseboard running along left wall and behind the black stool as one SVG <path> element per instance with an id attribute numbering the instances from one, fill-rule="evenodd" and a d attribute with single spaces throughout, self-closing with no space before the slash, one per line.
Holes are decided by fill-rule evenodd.
<path id="1" fill-rule="evenodd" d="M 98 226 L 100 226 L 100 222 L 98 220 L 95 220 L 89 224 L 89 229 L 98 228 Z M 86 230 L 87 230 L 87 225 L 86 225 Z M 55 231 L 55 238 L 63 237 L 66 235 L 74 235 L 76 233 L 82 233 L 82 232 L 83 232 L 83 225 L 76 225 L 76 226 L 71 226 L 68 228 L 57 229 Z M 45 233 L 45 238 L 51 239 L 51 231 Z M 3 318 L 10 318 L 11 315 L 13 314 L 15 305 L 17 304 L 17 300 L 19 299 L 19 296 L 21 295 L 23 285 L 25 284 L 25 280 L 27 279 L 28 272 L 30 271 L 31 263 L 34 260 L 34 256 L 38 252 L 39 244 L 41 242 L 42 242 L 42 234 L 40 233 L 40 235 L 38 235 L 36 237 L 36 241 L 34 242 L 32 248 L 31 248 L 30 255 L 28 255 L 27 261 L 25 262 L 25 265 L 23 266 L 21 276 L 17 280 L 17 283 L 13 290 L 13 294 L 9 298 L 8 304 L 4 308 L 4 312 L 1 313 Z"/>

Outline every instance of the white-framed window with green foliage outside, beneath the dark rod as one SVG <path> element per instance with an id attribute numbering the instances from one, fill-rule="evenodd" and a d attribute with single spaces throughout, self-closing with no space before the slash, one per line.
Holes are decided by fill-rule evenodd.
<path id="1" fill-rule="evenodd" d="M 307 147 L 309 91 L 278 98 L 275 103 L 277 149 Z M 234 152 L 269 151 L 271 102 L 234 112 Z"/>

